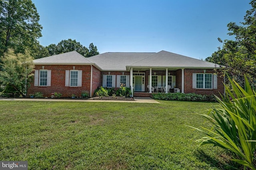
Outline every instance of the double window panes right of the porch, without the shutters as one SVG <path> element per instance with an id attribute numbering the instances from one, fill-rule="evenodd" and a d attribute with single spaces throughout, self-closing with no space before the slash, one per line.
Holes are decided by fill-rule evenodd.
<path id="1" fill-rule="evenodd" d="M 212 74 L 196 74 L 196 88 L 212 88 Z"/>

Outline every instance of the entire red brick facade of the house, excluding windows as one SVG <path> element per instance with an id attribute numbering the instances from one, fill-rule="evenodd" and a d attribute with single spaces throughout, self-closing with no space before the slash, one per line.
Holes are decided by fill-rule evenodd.
<path id="1" fill-rule="evenodd" d="M 41 70 L 43 65 L 36 65 L 35 70 Z M 66 87 L 65 86 L 65 71 L 82 70 L 82 87 Z M 34 80 L 31 83 L 30 88 L 28 88 L 27 94 L 34 94 L 36 92 L 42 92 L 44 97 L 50 97 L 51 93 L 58 92 L 62 94 L 62 97 L 70 97 L 72 94 L 76 96 L 81 96 L 82 91 L 88 91 L 90 94 L 90 83 L 91 83 L 91 68 L 92 68 L 92 94 L 94 91 L 102 86 L 103 75 L 130 75 L 129 71 L 100 71 L 95 66 L 91 65 L 44 65 L 44 70 L 51 70 L 51 86 L 34 86 Z M 134 73 L 138 72 L 136 70 Z M 140 71 L 145 73 L 145 92 L 148 92 L 147 85 L 149 84 L 148 77 L 150 75 L 150 70 Z M 152 75 L 165 76 L 166 70 L 152 70 Z M 169 74 L 170 73 L 170 74 Z M 192 88 L 192 74 L 193 73 L 204 73 L 204 69 L 184 69 L 184 93 L 196 93 L 203 95 L 218 95 L 224 93 L 223 77 L 218 77 L 218 87 L 217 89 L 195 89 Z M 206 69 L 206 73 L 214 73 L 212 69 Z M 168 70 L 168 75 L 176 76 L 176 88 L 182 88 L 182 70 Z M 116 76 L 117 78 L 117 76 Z M 163 78 L 162 78 L 163 79 Z M 129 80 L 130 81 L 130 80 Z M 118 82 L 116 80 L 116 82 Z M 162 80 L 163 82 L 163 80 Z M 130 82 L 131 84 L 132 82 Z M 173 88 L 173 87 L 172 87 Z M 117 89 L 117 88 L 116 88 Z M 171 90 L 173 92 L 173 89 Z M 146 95 L 148 96 L 148 95 Z"/>

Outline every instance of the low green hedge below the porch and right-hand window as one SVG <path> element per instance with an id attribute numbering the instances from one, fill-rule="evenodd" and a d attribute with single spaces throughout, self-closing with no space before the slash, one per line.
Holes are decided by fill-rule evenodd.
<path id="1" fill-rule="evenodd" d="M 152 94 L 154 99 L 158 100 L 180 100 L 180 101 L 207 101 L 215 102 L 216 98 L 208 95 L 201 95 L 195 93 L 157 93 Z"/>

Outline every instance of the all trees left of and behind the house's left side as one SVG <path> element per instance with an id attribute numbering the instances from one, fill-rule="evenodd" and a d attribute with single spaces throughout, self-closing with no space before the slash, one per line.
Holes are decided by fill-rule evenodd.
<path id="1" fill-rule="evenodd" d="M 32 81 L 32 60 L 70 51 L 84 57 L 98 55 L 93 43 L 85 47 L 75 39 L 62 40 L 57 45 L 40 45 L 42 25 L 32 0 L 0 0 L 0 96 L 24 96 Z"/>

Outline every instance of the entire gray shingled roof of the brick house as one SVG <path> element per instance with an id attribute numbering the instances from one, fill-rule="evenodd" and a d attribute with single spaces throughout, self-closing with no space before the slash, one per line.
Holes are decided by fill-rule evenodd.
<path id="1" fill-rule="evenodd" d="M 34 64 L 92 64 L 103 71 L 125 71 L 133 68 L 215 68 L 219 65 L 160 51 L 158 53 L 103 53 L 85 58 L 76 51 L 44 57 Z"/>

